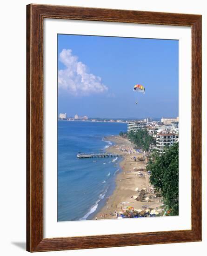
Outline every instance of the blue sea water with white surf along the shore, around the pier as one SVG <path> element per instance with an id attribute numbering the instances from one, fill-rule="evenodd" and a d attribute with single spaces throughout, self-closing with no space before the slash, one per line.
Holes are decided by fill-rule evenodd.
<path id="1" fill-rule="evenodd" d="M 112 145 L 104 137 L 126 130 L 126 123 L 58 121 L 58 221 L 89 220 L 103 207 L 115 188 L 121 158 L 76 155 L 103 153 Z"/>

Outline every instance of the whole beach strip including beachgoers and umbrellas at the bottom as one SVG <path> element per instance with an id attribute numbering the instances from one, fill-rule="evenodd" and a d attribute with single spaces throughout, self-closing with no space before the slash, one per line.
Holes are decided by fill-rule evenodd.
<path id="1" fill-rule="evenodd" d="M 105 206 L 95 219 L 140 218 L 165 215 L 162 197 L 149 182 L 151 173 L 146 170 L 146 159 L 141 150 L 134 150 L 127 138 L 110 136 L 107 141 L 114 145 L 109 153 L 126 152 L 120 162 L 121 172 L 116 177 L 116 187 L 107 196 Z"/>

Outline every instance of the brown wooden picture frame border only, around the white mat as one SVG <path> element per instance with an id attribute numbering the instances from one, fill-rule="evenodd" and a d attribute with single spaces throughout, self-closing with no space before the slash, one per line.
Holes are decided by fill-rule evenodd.
<path id="1" fill-rule="evenodd" d="M 43 20 L 95 20 L 192 29 L 192 229 L 43 238 Z M 27 251 L 201 241 L 201 15 L 30 4 L 27 6 Z"/>

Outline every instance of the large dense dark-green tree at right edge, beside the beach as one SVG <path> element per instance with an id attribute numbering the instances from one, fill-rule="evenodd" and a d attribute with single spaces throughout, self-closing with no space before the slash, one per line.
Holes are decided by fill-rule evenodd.
<path id="1" fill-rule="evenodd" d="M 179 143 L 167 148 L 161 156 L 154 152 L 147 164 L 151 171 L 150 182 L 161 193 L 170 215 L 179 213 Z"/>

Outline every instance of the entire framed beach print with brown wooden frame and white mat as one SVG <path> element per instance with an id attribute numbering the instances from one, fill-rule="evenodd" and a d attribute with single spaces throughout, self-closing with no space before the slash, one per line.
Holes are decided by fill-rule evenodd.
<path id="1" fill-rule="evenodd" d="M 201 15 L 27 6 L 27 250 L 201 241 Z"/>

